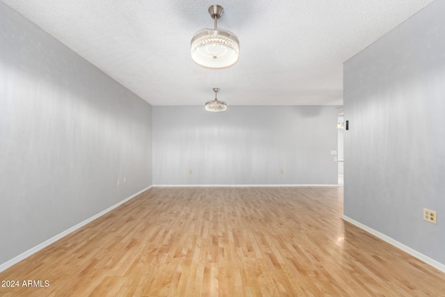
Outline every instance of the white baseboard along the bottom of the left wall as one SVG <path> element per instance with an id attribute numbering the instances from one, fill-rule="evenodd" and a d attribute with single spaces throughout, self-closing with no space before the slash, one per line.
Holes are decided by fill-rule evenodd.
<path id="1" fill-rule="evenodd" d="M 94 216 L 87 218 L 86 220 L 83 220 L 83 222 L 74 225 L 72 227 L 70 227 L 70 229 L 65 230 L 59 234 L 57 234 L 56 236 L 51 237 L 50 239 L 48 239 L 47 241 L 44 241 L 42 243 L 40 243 L 38 246 L 35 246 L 33 248 L 30 248 L 29 250 L 26 250 L 26 252 L 22 252 L 22 254 L 18 255 L 17 257 L 14 257 L 13 259 L 10 259 L 9 261 L 0 264 L 0 272 L 4 271 L 8 268 L 10 268 L 10 266 L 13 266 L 14 264 L 17 264 L 18 262 L 22 261 L 23 259 L 26 259 L 27 257 L 35 254 L 35 252 L 38 252 L 39 250 L 42 250 L 43 248 L 46 248 L 47 246 L 49 246 L 51 243 L 54 243 L 56 241 L 58 241 L 59 239 L 61 239 L 64 236 L 67 236 L 68 234 L 70 234 L 71 232 L 76 231 L 77 229 L 79 229 L 80 227 L 85 226 L 86 224 L 92 222 L 93 220 L 95 220 L 96 218 L 99 218 L 100 216 L 103 216 L 104 214 L 106 214 L 108 211 L 112 211 L 113 209 L 115 209 L 116 207 L 119 207 L 121 204 L 124 204 L 125 202 L 135 198 L 137 195 L 139 195 L 140 193 L 143 193 L 145 191 L 147 191 L 149 188 L 152 188 L 153 186 L 148 186 L 147 188 L 144 188 L 143 190 L 140 190 L 138 193 L 131 195 L 129 198 L 125 198 L 124 200 L 114 204 L 111 207 L 108 207 L 107 209 L 105 209 L 104 211 L 99 212 L 99 214 L 95 214 Z"/>

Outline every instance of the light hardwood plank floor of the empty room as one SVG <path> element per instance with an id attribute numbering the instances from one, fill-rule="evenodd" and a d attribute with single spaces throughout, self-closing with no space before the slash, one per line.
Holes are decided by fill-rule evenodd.
<path id="1" fill-rule="evenodd" d="M 445 296 L 341 220 L 343 188 L 152 188 L 0 273 L 2 296 Z"/>

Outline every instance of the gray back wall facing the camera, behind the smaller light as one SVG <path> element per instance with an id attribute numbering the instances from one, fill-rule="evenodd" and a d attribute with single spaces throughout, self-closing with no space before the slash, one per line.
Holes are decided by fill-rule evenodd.
<path id="1" fill-rule="evenodd" d="M 153 106 L 152 112 L 155 185 L 338 182 L 332 106 L 229 105 L 223 113 L 204 105 Z"/>

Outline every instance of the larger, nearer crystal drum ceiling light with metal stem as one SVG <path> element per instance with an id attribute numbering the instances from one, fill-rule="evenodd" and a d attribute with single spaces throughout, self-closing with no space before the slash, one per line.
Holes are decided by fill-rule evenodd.
<path id="1" fill-rule="evenodd" d="M 223 11 L 224 8 L 219 5 L 210 6 L 209 14 L 214 19 L 214 28 L 197 31 L 190 42 L 193 61 L 202 67 L 225 68 L 238 61 L 238 38 L 234 33 L 216 26 Z"/>

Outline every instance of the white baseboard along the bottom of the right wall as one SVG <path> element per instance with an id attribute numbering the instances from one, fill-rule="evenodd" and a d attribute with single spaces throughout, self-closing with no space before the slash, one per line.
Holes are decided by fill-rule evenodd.
<path id="1" fill-rule="evenodd" d="M 395 246 L 396 248 L 399 248 L 399 249 L 403 250 L 404 252 L 407 252 L 408 254 L 410 254 L 413 257 L 416 257 L 417 259 L 425 262 L 426 264 L 436 268 L 437 270 L 445 273 L 445 264 L 437 262 L 435 259 L 431 259 L 430 257 L 423 255 L 421 252 L 413 250 L 409 246 L 405 246 L 403 243 L 400 243 L 400 242 L 396 241 L 395 239 L 392 239 L 391 237 L 378 232 L 377 230 L 373 230 L 373 228 L 371 228 L 371 227 L 368 227 L 362 223 L 357 222 L 357 220 L 354 220 L 353 218 L 350 218 L 345 215 L 341 216 L 341 218 L 353 225 L 356 225 L 360 229 L 363 229 L 366 232 L 369 232 L 369 233 L 373 234 L 374 236 L 377 236 L 378 238 L 382 239 L 383 241 L 386 241 L 387 243 L 391 244 L 392 246 Z"/>

